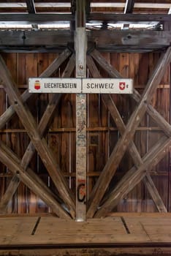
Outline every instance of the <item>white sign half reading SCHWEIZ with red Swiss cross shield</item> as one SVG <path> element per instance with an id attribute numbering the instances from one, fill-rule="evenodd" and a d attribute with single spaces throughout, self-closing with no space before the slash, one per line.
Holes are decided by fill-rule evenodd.
<path id="1" fill-rule="evenodd" d="M 133 80 L 120 78 L 83 79 L 85 94 L 132 94 Z"/>

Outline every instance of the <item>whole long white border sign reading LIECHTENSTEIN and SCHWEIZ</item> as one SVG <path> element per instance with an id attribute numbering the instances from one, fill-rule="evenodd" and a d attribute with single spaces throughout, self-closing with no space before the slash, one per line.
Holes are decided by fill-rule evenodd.
<path id="1" fill-rule="evenodd" d="M 132 94 L 128 78 L 29 78 L 31 93 Z"/>

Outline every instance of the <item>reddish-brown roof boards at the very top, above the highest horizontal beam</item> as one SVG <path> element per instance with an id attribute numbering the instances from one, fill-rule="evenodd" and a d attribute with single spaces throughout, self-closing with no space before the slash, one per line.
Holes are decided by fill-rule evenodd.
<path id="1" fill-rule="evenodd" d="M 71 6 L 75 1 L 24 1 L 24 0 L 6 0 L 0 3 L 0 12 L 30 12 L 31 5 L 34 6 L 35 12 L 71 12 Z M 32 3 L 32 4 L 31 4 Z M 133 13 L 163 13 L 167 14 L 170 11 L 170 0 L 156 1 L 90 1 L 91 12 L 133 12 Z M 33 10 L 33 9 L 32 9 Z"/>

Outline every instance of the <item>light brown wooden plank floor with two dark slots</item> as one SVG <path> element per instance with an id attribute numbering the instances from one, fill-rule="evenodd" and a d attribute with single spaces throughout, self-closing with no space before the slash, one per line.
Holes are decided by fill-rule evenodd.
<path id="1" fill-rule="evenodd" d="M 0 232 L 0 255 L 7 251 L 12 255 L 19 249 L 35 252 L 40 248 L 46 251 L 102 248 L 107 249 L 105 255 L 115 255 L 124 249 L 133 254 L 137 248 L 136 255 L 142 251 L 142 255 L 144 252 L 171 255 L 171 214 L 113 214 L 87 222 L 53 216 L 1 216 Z M 109 254 L 114 248 L 115 253 Z"/>

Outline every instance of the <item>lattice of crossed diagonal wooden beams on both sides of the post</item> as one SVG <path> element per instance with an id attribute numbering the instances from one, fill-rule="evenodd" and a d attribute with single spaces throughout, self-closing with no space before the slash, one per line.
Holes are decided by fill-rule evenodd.
<path id="1" fill-rule="evenodd" d="M 61 66 L 61 64 L 66 61 L 66 59 L 69 59 L 69 61 L 66 64 L 62 77 L 69 78 L 75 68 L 75 53 L 72 53 L 68 48 L 66 48 L 66 50 L 64 50 L 64 52 L 61 53 L 61 55 L 58 56 L 58 58 L 55 59 L 39 77 L 50 77 L 50 75 L 52 75 Z M 153 69 L 151 77 L 149 78 L 142 95 L 140 95 L 136 89 L 134 89 L 133 94 L 130 94 L 130 97 L 137 102 L 137 106 L 126 125 L 123 123 L 123 119 L 115 106 L 115 102 L 113 102 L 112 97 L 110 97 L 110 94 L 102 94 L 102 101 L 110 111 L 110 114 L 118 127 L 118 131 L 121 133 L 121 137 L 115 144 L 115 147 L 113 148 L 113 151 L 110 154 L 102 173 L 96 181 L 93 191 L 91 192 L 91 196 L 87 202 L 88 218 L 105 217 L 107 213 L 112 211 L 112 209 L 117 206 L 118 202 L 142 180 L 145 182 L 158 211 L 167 211 L 161 200 L 159 192 L 153 184 L 149 171 L 168 153 L 171 146 L 171 126 L 151 105 L 153 94 L 156 91 L 164 72 L 166 72 L 166 69 L 170 64 L 170 60 L 171 48 L 169 47 L 161 55 L 155 69 Z M 96 63 L 98 63 L 99 66 L 107 72 L 110 78 L 121 78 L 121 74 L 104 59 L 101 53 L 99 53 L 98 50 L 93 49 L 91 50 L 91 53 L 88 52 L 87 67 L 92 77 L 100 78 L 101 75 L 99 73 L 99 69 L 96 67 Z M 68 184 L 66 184 L 62 170 L 58 166 L 56 159 L 53 157 L 44 137 L 49 121 L 53 117 L 56 106 L 61 99 L 61 94 L 53 94 L 53 97 L 50 98 L 50 102 L 48 103 L 45 113 L 37 127 L 34 117 L 25 104 L 32 94 L 28 93 L 27 89 L 20 95 L 20 92 L 9 73 L 9 70 L 4 64 L 2 57 L 0 58 L 0 78 L 11 104 L 0 117 L 0 129 L 4 127 L 7 121 L 9 121 L 16 112 L 30 138 L 30 143 L 22 159 L 20 159 L 9 147 L 0 141 L 0 161 L 6 165 L 13 174 L 12 181 L 10 181 L 9 187 L 7 187 L 4 197 L 0 203 L 1 211 L 4 211 L 7 207 L 7 203 L 11 199 L 12 195 L 14 195 L 20 181 L 22 181 L 23 184 L 26 184 L 31 191 L 40 197 L 58 217 L 75 219 L 75 197 L 72 195 Z M 156 124 L 161 127 L 164 135 L 156 141 L 156 144 L 145 154 L 144 157 L 140 157 L 140 153 L 134 144 L 133 137 L 142 117 L 145 115 L 145 112 L 147 112 L 148 115 L 156 121 Z M 58 197 L 54 195 L 48 187 L 46 187 L 43 181 L 36 173 L 34 173 L 34 170 L 31 170 L 31 168 L 28 167 L 34 151 L 37 151 L 39 157 L 42 159 L 42 162 L 58 189 L 58 193 L 64 201 L 67 210 L 62 207 Z M 102 200 L 105 192 L 107 191 L 107 187 L 109 186 L 110 181 L 115 175 L 117 167 L 123 158 L 123 154 L 126 151 L 129 151 L 129 154 L 134 161 L 134 167 L 128 170 L 123 178 L 121 178 L 121 181 L 113 187 L 110 195 L 107 195 L 105 200 Z"/>

